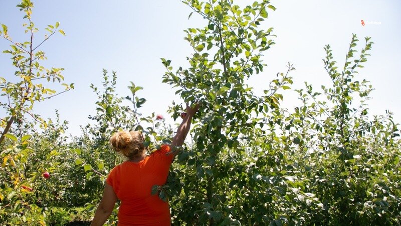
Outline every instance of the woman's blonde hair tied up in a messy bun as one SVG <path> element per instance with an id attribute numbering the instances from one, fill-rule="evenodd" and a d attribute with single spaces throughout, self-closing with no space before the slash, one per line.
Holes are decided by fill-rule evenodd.
<path id="1" fill-rule="evenodd" d="M 110 138 L 110 144 L 117 152 L 128 158 L 139 156 L 145 152 L 143 136 L 140 131 L 119 131 Z"/>

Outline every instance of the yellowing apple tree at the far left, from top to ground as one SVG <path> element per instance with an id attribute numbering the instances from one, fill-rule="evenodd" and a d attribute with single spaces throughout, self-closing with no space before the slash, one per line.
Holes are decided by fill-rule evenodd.
<path id="1" fill-rule="evenodd" d="M 24 12 L 23 24 L 26 41 L 14 40 L 10 34 L 12 31 L 6 24 L 1 24 L 0 36 L 10 42 L 10 49 L 3 53 L 10 54 L 13 66 L 16 68 L 14 78 L 0 77 L 0 105 L 6 115 L 0 118 L 2 134 L 0 136 L 0 221 L 12 218 L 15 224 L 41 223 L 44 224 L 42 209 L 37 204 L 29 203 L 36 193 L 35 183 L 42 177 L 42 173 L 50 171 L 53 165 L 45 168 L 36 165 L 35 171 L 30 168 L 30 156 L 35 156 L 33 149 L 34 129 L 36 125 L 47 128 L 49 121 L 41 118 L 34 112 L 34 105 L 38 101 L 45 101 L 63 92 L 74 88 L 74 84 L 62 83 L 64 90 L 56 91 L 50 87 L 50 83 L 61 83 L 64 80 L 62 71 L 64 68 L 46 68 L 41 61 L 46 59 L 46 54 L 40 47 L 55 33 L 65 35 L 59 28 L 60 23 L 48 25 L 44 37 L 37 40 L 37 28 L 32 21 L 32 9 L 34 3 L 31 0 L 22 0 L 17 5 Z M 53 126 L 51 126 L 53 127 Z M 38 153 L 45 154 L 45 153 Z M 40 183 L 40 182 L 38 182 Z M 32 189 L 33 188 L 33 189 Z M 30 209 L 28 215 L 24 215 L 24 209 Z"/>

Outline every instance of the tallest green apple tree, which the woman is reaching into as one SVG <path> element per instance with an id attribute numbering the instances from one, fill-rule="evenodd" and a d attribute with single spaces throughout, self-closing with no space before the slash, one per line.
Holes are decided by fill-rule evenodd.
<path id="1" fill-rule="evenodd" d="M 246 204 L 245 196 L 254 192 L 245 173 L 251 160 L 247 144 L 255 140 L 255 129 L 269 123 L 267 114 L 279 109 L 283 96 L 278 91 L 292 83 L 288 72 L 294 68 L 289 64 L 287 73 L 278 73 L 262 96 L 255 95 L 246 80 L 266 66 L 261 56 L 274 44 L 274 35 L 273 28 L 261 28 L 261 23 L 275 7 L 267 0 L 244 8 L 232 0 L 183 2 L 208 24 L 185 30 L 193 48 L 188 68 L 173 70 L 171 61 L 162 58 L 167 69 L 163 82 L 176 87 L 184 101 L 200 103 L 194 143 L 178 155 L 172 172 L 179 175 L 185 194 L 172 200 L 174 223 L 270 222 L 263 217 L 268 208 Z M 171 106 L 174 118 L 180 109 Z"/>

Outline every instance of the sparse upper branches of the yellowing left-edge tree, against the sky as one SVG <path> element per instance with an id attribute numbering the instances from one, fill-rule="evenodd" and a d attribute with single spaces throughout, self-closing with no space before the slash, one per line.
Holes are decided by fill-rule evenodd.
<path id="1" fill-rule="evenodd" d="M 40 46 L 47 41 L 53 34 L 60 32 L 65 35 L 64 31 L 59 28 L 60 23 L 56 22 L 54 25 L 48 25 L 45 30 L 44 38 L 40 40 L 39 44 L 34 44 L 39 28 L 35 26 L 32 21 L 32 8 L 34 7 L 31 0 L 23 0 L 17 5 L 21 11 L 24 11 L 24 19 L 26 22 L 23 24 L 25 33 L 29 34 L 26 41 L 15 41 L 9 33 L 9 28 L 5 24 L 1 24 L 3 31 L 0 35 L 11 42 L 10 49 L 4 50 L 3 53 L 11 55 L 13 66 L 16 67 L 14 75 L 17 78 L 16 82 L 8 81 L 4 77 L 0 77 L 0 88 L 2 90 L 1 106 L 8 112 L 8 115 L 2 117 L 2 127 L 6 127 L 5 131 L 0 138 L 3 141 L 4 135 L 7 133 L 10 125 L 16 121 L 20 132 L 24 126 L 24 117 L 28 115 L 39 122 L 41 126 L 46 126 L 44 121 L 39 115 L 32 112 L 35 102 L 44 101 L 62 92 L 66 92 L 74 88 L 74 83 L 62 83 L 65 90 L 57 92 L 48 87 L 46 83 L 41 82 L 61 82 L 64 80 L 62 71 L 64 68 L 46 68 L 41 65 L 42 60 L 46 60 L 45 52 L 40 50 Z M 10 79 L 15 80 L 15 79 Z"/>

